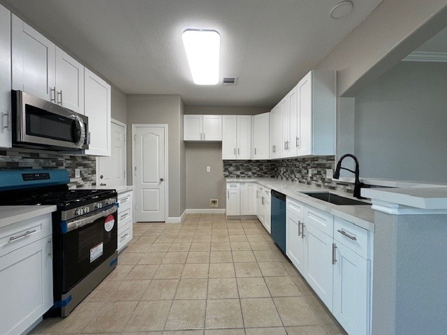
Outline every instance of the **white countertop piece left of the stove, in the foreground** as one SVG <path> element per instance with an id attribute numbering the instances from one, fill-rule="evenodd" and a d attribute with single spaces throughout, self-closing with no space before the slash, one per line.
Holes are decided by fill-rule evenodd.
<path id="1" fill-rule="evenodd" d="M 0 206 L 0 228 L 56 211 L 55 205 Z"/>

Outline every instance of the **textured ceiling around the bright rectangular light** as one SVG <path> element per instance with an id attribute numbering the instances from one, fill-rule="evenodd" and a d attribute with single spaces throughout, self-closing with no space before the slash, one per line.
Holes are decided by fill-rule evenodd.
<path id="1" fill-rule="evenodd" d="M 381 0 L 3 0 L 126 94 L 180 94 L 186 105 L 272 106 Z M 193 84 L 185 29 L 221 36 L 220 77 L 236 87 Z"/>

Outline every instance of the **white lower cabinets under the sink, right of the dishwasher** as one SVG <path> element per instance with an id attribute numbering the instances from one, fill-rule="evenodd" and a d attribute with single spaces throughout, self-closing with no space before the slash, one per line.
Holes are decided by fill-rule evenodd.
<path id="1" fill-rule="evenodd" d="M 371 232 L 287 198 L 286 255 L 349 335 L 371 334 Z"/>

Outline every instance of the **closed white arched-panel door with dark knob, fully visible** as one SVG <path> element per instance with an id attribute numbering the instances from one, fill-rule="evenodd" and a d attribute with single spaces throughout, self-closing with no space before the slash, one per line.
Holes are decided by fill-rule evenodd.
<path id="1" fill-rule="evenodd" d="M 166 221 L 166 128 L 137 126 L 134 141 L 136 221 Z"/>

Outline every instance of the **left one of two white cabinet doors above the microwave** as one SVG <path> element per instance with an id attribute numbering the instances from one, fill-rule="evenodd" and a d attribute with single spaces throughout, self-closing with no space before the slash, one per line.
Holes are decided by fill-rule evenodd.
<path id="1" fill-rule="evenodd" d="M 54 102 L 55 46 L 12 16 L 13 89 Z"/>

